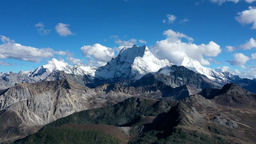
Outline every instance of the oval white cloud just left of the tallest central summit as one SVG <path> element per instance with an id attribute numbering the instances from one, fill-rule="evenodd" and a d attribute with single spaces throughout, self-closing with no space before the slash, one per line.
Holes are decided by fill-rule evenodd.
<path id="1" fill-rule="evenodd" d="M 92 46 L 82 46 L 81 50 L 83 56 L 100 62 L 108 62 L 115 57 L 115 52 L 112 48 L 100 45 L 99 43 L 95 43 Z"/>

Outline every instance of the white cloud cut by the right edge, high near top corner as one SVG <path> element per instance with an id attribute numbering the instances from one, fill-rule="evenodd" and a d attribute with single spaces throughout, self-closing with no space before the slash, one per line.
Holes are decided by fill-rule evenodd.
<path id="1" fill-rule="evenodd" d="M 253 24 L 252 29 L 256 29 L 256 7 L 249 6 L 248 10 L 239 12 L 235 19 L 241 24 Z"/>

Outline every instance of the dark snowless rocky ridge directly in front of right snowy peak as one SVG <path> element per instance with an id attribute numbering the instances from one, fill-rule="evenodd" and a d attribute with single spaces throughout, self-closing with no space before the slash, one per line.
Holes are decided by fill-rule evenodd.
<path id="1" fill-rule="evenodd" d="M 177 65 L 161 68 L 156 74 L 146 74 L 138 80 L 123 80 L 118 83 L 126 86 L 138 87 L 152 85 L 152 83 L 156 82 L 162 82 L 165 85 L 171 86 L 172 88 L 189 85 L 198 92 L 204 88 L 221 88 L 221 85 L 215 83 L 207 77 L 195 73 L 186 67 Z M 196 93 L 197 92 L 193 94 Z"/>

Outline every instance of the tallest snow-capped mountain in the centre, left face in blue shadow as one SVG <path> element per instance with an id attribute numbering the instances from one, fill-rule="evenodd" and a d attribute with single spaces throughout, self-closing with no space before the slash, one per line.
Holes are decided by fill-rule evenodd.
<path id="1" fill-rule="evenodd" d="M 147 73 L 156 73 L 160 68 L 173 65 L 167 59 L 159 60 L 147 46 L 123 48 L 118 56 L 95 71 L 100 79 L 139 79 Z"/>

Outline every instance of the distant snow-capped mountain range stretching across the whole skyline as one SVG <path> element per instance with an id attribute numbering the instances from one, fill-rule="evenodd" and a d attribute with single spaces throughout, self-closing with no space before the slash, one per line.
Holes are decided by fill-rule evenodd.
<path id="1" fill-rule="evenodd" d="M 179 68 L 180 66 L 185 68 Z M 219 73 L 213 69 L 203 67 L 198 61 L 187 56 L 184 56 L 180 66 L 170 63 L 167 59 L 159 60 L 150 52 L 147 46 L 138 47 L 134 45 L 131 48 L 123 48 L 116 58 L 99 68 L 72 66 L 57 59 L 52 59 L 48 64 L 42 65 L 35 70 L 20 71 L 18 74 L 12 72 L 0 73 L 0 90 L 18 83 L 35 83 L 58 79 L 70 79 L 92 88 L 101 83 L 124 83 L 123 81 L 127 80 L 135 82 L 144 79 L 144 76 L 148 77 L 149 74 L 152 74 L 157 77 L 158 81 L 164 82 L 173 88 L 188 84 L 201 91 L 201 89 L 207 87 L 204 85 L 211 85 L 210 87 L 214 85 L 216 88 L 220 88 L 226 83 L 237 83 L 249 91 L 256 91 L 254 87 L 256 79 L 241 79 L 239 76 L 234 76 L 229 72 Z M 187 73 L 187 76 L 175 77 L 170 82 L 166 77 L 173 77 L 176 68 L 179 68 L 179 74 L 182 74 L 183 71 L 187 73 L 187 69 L 201 74 L 199 76 L 202 79 L 201 81 L 207 84 L 196 82 L 199 79 L 193 80 L 196 84 L 189 83 L 189 80 L 193 79 L 193 77 L 189 77 L 189 74 L 193 73 L 192 71 Z M 131 82 L 129 82 L 129 85 L 131 85 Z"/>

